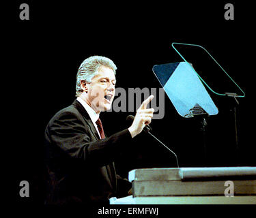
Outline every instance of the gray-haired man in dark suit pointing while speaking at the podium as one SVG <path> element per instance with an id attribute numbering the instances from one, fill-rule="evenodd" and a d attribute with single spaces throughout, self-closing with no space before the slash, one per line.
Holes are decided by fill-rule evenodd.
<path id="1" fill-rule="evenodd" d="M 116 174 L 113 161 L 150 124 L 154 109 L 147 109 L 147 104 L 153 96 L 141 104 L 128 129 L 106 138 L 99 115 L 111 108 L 116 69 L 106 57 L 85 59 L 76 76 L 77 98 L 48 123 L 46 204 L 109 204 L 113 196 L 128 195 L 131 185 Z"/>

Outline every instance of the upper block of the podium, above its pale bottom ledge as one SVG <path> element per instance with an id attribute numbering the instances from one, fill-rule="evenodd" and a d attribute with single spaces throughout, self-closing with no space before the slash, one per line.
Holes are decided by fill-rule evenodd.
<path id="1" fill-rule="evenodd" d="M 137 169 L 129 181 L 134 197 L 256 196 L 256 167 Z"/>

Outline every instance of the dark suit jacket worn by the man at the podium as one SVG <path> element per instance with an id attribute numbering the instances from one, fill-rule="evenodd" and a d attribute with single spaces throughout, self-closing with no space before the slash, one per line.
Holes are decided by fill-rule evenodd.
<path id="1" fill-rule="evenodd" d="M 117 191 L 118 181 L 125 192 L 130 189 L 128 180 L 116 174 L 113 163 L 119 153 L 127 149 L 125 144 L 132 140 L 128 129 L 100 140 L 89 114 L 75 100 L 53 116 L 46 127 L 45 138 L 46 204 L 108 203 L 112 196 L 122 196 Z"/>

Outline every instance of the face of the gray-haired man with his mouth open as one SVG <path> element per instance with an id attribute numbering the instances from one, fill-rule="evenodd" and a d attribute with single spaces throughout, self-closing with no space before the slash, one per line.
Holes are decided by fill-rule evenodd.
<path id="1" fill-rule="evenodd" d="M 100 67 L 98 74 L 86 84 L 87 104 L 97 113 L 110 110 L 115 97 L 115 74 L 109 67 Z"/>

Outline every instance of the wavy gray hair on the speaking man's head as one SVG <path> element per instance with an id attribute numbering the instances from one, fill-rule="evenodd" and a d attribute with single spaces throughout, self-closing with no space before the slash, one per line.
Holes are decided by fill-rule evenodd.
<path id="1" fill-rule="evenodd" d="M 111 59 L 102 56 L 91 56 L 81 63 L 76 74 L 76 97 L 83 92 L 83 89 L 81 89 L 81 80 L 91 82 L 91 79 L 98 74 L 98 69 L 102 66 L 113 69 L 114 74 L 117 69 L 115 63 L 111 61 Z"/>

